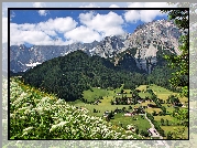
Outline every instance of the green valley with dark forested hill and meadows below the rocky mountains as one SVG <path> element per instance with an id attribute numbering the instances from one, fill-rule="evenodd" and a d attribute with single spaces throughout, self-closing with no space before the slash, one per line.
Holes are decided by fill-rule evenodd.
<path id="1" fill-rule="evenodd" d="M 31 86 L 35 92 L 53 94 L 76 109 L 87 109 L 89 117 L 101 118 L 129 135 L 145 139 L 176 138 L 177 133 L 166 133 L 166 126 L 172 130 L 184 126 L 185 133 L 188 98 L 179 97 L 179 91 L 168 82 L 175 70 L 164 64 L 147 74 L 136 67 L 131 71 L 127 64 L 125 60 L 113 65 L 108 59 L 75 51 L 44 62 L 18 78 L 22 88 Z M 180 120 L 179 114 L 185 119 Z"/>

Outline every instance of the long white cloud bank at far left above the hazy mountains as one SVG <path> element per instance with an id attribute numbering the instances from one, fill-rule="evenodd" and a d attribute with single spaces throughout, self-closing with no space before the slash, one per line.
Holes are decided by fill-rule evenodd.
<path id="1" fill-rule="evenodd" d="M 56 18 L 50 19 L 46 22 L 40 22 L 37 24 L 23 23 L 10 24 L 10 43 L 23 44 L 24 42 L 37 45 L 51 45 L 54 44 L 51 36 L 57 36 L 57 33 L 65 33 L 75 29 L 77 22 L 72 18 Z M 3 35 L 6 36 L 6 35 Z M 7 34 L 8 36 L 8 34 Z M 4 40 L 4 38 L 3 38 Z M 59 44 L 65 44 L 62 40 L 58 40 Z"/>

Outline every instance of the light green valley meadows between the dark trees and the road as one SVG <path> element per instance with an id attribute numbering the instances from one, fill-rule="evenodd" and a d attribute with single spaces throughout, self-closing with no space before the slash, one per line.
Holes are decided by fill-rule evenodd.
<path id="1" fill-rule="evenodd" d="M 176 107 L 173 104 L 163 103 L 162 106 L 166 108 L 166 113 L 163 114 L 163 110 L 161 107 L 149 107 L 150 104 L 154 104 L 154 102 L 146 101 L 145 98 L 151 98 L 151 94 L 146 92 L 146 88 L 152 89 L 155 94 L 160 94 L 160 96 L 165 95 L 167 98 L 171 95 L 175 95 L 176 93 L 173 93 L 172 91 L 168 91 L 164 87 L 157 86 L 157 85 L 140 85 L 136 87 L 139 92 L 140 98 L 142 98 L 144 102 L 138 103 L 138 104 L 130 104 L 130 105 L 111 105 L 111 101 L 114 101 L 116 97 L 132 97 L 131 89 L 123 89 L 127 94 L 121 94 L 120 96 L 117 95 L 121 89 L 123 88 L 123 85 L 120 88 L 116 89 L 102 89 L 102 88 L 96 88 L 92 87 L 91 91 L 85 91 L 84 92 L 84 99 L 83 101 L 76 101 L 76 102 L 68 102 L 68 104 L 74 105 L 76 107 L 83 107 L 87 108 L 89 110 L 90 116 L 98 116 L 102 117 L 102 119 L 111 123 L 112 125 L 116 125 L 117 127 L 123 127 L 124 129 L 128 129 L 128 126 L 132 125 L 136 131 L 135 134 L 141 134 L 141 131 L 146 131 L 149 128 L 151 128 L 150 123 L 147 119 L 145 119 L 145 114 L 135 114 L 132 116 L 125 116 L 127 113 L 132 113 L 134 108 L 139 108 L 141 106 L 144 107 L 145 113 L 150 113 L 153 115 L 154 120 L 157 123 L 157 125 L 161 127 L 160 130 L 161 134 L 163 134 L 163 138 L 167 139 L 168 131 L 175 131 L 178 128 L 184 128 L 184 126 L 179 126 L 178 120 L 173 116 L 174 113 L 177 113 L 177 110 L 188 110 L 187 102 L 185 102 L 185 97 L 178 97 L 180 103 L 183 103 L 183 107 Z M 95 96 L 95 98 L 94 98 Z M 92 99 L 94 98 L 94 99 Z M 158 97 L 160 99 L 166 101 L 165 98 Z M 94 102 L 92 102 L 94 101 Z M 185 107 L 184 107 L 185 106 Z M 105 113 L 108 112 L 109 114 L 112 114 L 112 117 L 106 117 Z M 108 115 L 109 115 L 108 114 Z M 186 120 L 188 124 L 188 120 Z M 182 138 L 188 138 L 188 128 L 185 127 L 184 130 L 185 137 Z M 171 129 L 171 130 L 166 130 Z M 142 134 L 144 135 L 144 134 Z M 150 134 L 147 134 L 146 138 L 150 138 Z M 145 138 L 145 137 L 144 137 Z M 154 137 L 153 137 L 154 138 Z M 173 137 L 175 138 L 175 137 Z"/>

